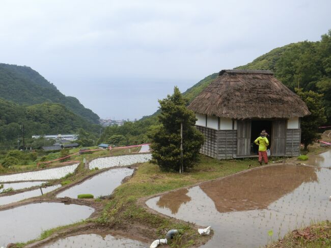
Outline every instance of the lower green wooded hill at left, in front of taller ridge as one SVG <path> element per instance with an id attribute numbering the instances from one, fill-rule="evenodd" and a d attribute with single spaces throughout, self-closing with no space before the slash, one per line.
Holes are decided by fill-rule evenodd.
<path id="1" fill-rule="evenodd" d="M 41 103 L 30 106 L 0 99 L 0 144 L 13 144 L 21 136 L 24 124 L 25 137 L 34 134 L 77 133 L 79 128 L 97 132 L 99 125 L 69 111 L 60 103 Z M 8 146 L 10 147 L 10 145 Z"/>

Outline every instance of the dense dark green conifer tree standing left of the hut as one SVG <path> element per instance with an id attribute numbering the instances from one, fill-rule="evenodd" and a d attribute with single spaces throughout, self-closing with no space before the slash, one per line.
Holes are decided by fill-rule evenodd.
<path id="1" fill-rule="evenodd" d="M 195 128 L 194 112 L 186 108 L 187 100 L 175 87 L 174 94 L 158 101 L 161 124 L 151 135 L 152 162 L 162 171 L 184 171 L 197 161 L 199 149 L 204 142 L 203 134 Z M 183 159 L 181 160 L 181 124 L 183 126 Z"/>

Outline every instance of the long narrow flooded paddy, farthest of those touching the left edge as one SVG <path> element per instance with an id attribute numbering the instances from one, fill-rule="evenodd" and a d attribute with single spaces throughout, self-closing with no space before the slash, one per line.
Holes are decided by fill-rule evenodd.
<path id="1" fill-rule="evenodd" d="M 78 163 L 72 164 L 71 166 L 45 169 L 41 171 L 4 175 L 4 176 L 0 176 L 0 182 L 59 179 L 61 177 L 64 177 L 68 173 L 73 173 L 77 167 L 78 167 Z"/>

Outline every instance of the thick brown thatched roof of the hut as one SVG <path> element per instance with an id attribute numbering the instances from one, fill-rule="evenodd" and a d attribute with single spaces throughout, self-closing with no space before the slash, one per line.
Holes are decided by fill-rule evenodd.
<path id="1" fill-rule="evenodd" d="M 310 114 L 306 104 L 268 70 L 222 70 L 188 108 L 195 113 L 232 119 Z"/>

